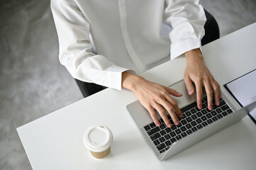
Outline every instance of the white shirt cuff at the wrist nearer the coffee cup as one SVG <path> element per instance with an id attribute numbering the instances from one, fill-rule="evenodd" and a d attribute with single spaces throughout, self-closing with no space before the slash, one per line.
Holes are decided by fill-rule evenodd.
<path id="1" fill-rule="evenodd" d="M 131 69 L 118 67 L 116 65 L 108 67 L 108 69 L 107 69 L 108 87 L 121 91 L 121 89 L 122 89 L 122 73 L 126 72 L 126 71 L 136 74 L 136 72 L 134 72 Z"/>

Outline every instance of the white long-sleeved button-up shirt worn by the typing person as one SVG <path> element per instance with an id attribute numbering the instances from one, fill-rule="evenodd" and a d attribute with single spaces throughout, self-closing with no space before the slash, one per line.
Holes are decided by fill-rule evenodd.
<path id="1" fill-rule="evenodd" d="M 51 8 L 61 64 L 75 79 L 118 90 L 122 72 L 201 47 L 206 22 L 199 0 L 51 0 Z"/>

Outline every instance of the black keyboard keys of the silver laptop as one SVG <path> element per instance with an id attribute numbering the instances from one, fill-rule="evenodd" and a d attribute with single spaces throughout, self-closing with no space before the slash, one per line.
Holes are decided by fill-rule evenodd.
<path id="1" fill-rule="evenodd" d="M 182 118 L 179 118 L 179 125 L 174 125 L 170 115 L 167 115 L 167 118 L 169 118 L 172 123 L 172 128 L 167 128 L 162 118 L 160 119 L 160 127 L 157 127 L 154 122 L 144 126 L 150 139 L 160 153 L 169 149 L 169 147 L 177 140 L 181 140 L 182 138 L 187 137 L 187 135 L 191 135 L 197 130 L 233 113 L 223 99 L 220 100 L 220 106 L 213 104 L 213 111 L 208 110 L 206 97 L 203 98 L 202 102 L 203 108 L 201 110 L 197 108 L 196 102 L 182 108 L 181 111 L 183 116 Z"/>

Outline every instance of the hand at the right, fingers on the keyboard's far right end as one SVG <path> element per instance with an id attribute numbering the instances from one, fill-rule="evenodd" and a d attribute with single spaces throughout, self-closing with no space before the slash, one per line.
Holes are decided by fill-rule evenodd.
<path id="1" fill-rule="evenodd" d="M 196 85 L 196 101 L 197 107 L 202 109 L 202 97 L 203 97 L 203 87 L 206 90 L 208 109 L 213 110 L 213 93 L 215 98 L 215 103 L 219 106 L 221 98 L 221 86 L 214 79 L 213 75 L 206 67 L 204 63 L 204 57 L 201 54 L 199 48 L 185 52 L 187 58 L 187 67 L 184 71 L 184 81 L 187 86 L 188 94 L 194 94 L 194 86 L 192 82 Z"/>

